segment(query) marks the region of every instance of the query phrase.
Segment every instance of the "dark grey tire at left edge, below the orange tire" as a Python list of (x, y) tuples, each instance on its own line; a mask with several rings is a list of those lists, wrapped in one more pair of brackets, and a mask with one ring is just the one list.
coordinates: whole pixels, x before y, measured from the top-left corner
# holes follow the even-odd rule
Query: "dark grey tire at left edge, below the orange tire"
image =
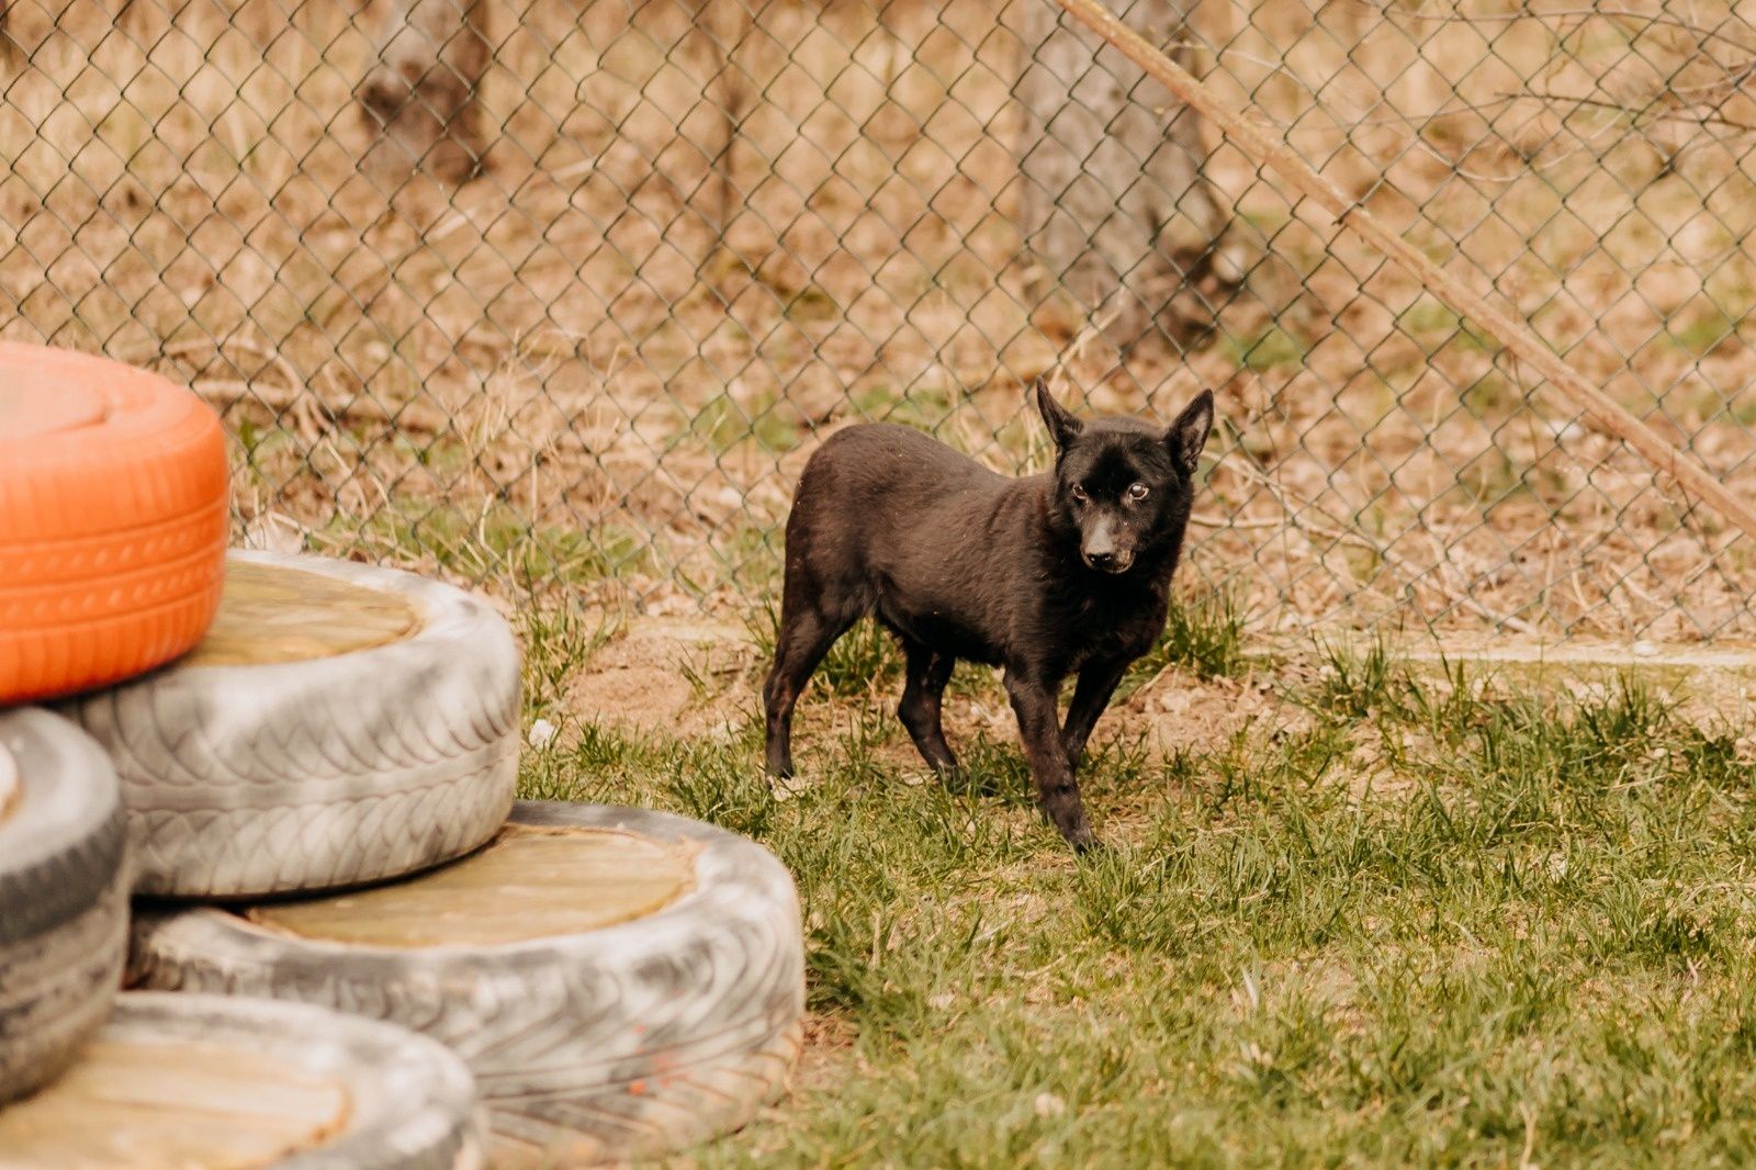
[(49, 711), (0, 711), (0, 1103), (54, 1077), (116, 998), (123, 843), (98, 745)]

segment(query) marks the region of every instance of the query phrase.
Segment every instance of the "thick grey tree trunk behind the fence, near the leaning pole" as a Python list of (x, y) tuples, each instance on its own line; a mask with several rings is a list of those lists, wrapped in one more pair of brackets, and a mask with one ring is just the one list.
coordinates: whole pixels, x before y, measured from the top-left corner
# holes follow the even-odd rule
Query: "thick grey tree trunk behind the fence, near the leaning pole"
[[(1026, 246), (1113, 343), (1180, 334), (1199, 302), (1178, 293), (1206, 276), (1227, 221), (1201, 174), (1203, 119), (1054, 0), (1022, 4)], [(1148, 40), (1184, 37), (1184, 0), (1120, 14)]]

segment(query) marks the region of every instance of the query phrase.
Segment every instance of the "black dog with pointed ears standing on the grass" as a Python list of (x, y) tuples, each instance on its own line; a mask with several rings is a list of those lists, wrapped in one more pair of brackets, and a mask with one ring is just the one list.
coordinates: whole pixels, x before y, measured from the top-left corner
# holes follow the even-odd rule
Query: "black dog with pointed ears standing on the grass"
[(792, 708), (811, 671), (876, 613), (908, 655), (897, 715), (927, 764), (957, 768), (939, 727), (957, 659), (1003, 666), (1043, 813), (1075, 849), (1092, 845), (1073, 773), (1122, 673), (1164, 629), (1213, 395), (1203, 390), (1169, 430), (1082, 425), (1041, 381), (1036, 404), (1055, 441), (1048, 474), (1008, 480), (892, 423), (848, 427), (811, 455), (787, 520), (762, 689), (773, 775), (792, 775)]

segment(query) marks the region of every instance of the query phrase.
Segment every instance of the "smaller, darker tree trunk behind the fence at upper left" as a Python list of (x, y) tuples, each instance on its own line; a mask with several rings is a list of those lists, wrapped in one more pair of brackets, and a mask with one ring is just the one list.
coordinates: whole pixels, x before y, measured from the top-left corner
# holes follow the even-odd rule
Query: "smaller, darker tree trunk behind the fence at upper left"
[(493, 60), (486, 0), (393, 0), (360, 83), (372, 162), (464, 183), (488, 153), (479, 104)]

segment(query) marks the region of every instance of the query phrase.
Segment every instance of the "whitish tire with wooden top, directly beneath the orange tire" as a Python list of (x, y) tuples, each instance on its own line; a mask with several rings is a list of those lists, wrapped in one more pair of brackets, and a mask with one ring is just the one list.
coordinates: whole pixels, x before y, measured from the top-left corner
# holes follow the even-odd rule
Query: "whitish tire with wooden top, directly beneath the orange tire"
[[(293, 601), (258, 599), (241, 617), (239, 581), (263, 580)], [(351, 597), (402, 606), (413, 629), (334, 652), (328, 634), (360, 624)], [(237, 629), (251, 620), (260, 638)], [(135, 892), (251, 898), (379, 882), (488, 840), (518, 780), (518, 685), (511, 629), (458, 589), (232, 553), (207, 641), (65, 711), (116, 762)]]

